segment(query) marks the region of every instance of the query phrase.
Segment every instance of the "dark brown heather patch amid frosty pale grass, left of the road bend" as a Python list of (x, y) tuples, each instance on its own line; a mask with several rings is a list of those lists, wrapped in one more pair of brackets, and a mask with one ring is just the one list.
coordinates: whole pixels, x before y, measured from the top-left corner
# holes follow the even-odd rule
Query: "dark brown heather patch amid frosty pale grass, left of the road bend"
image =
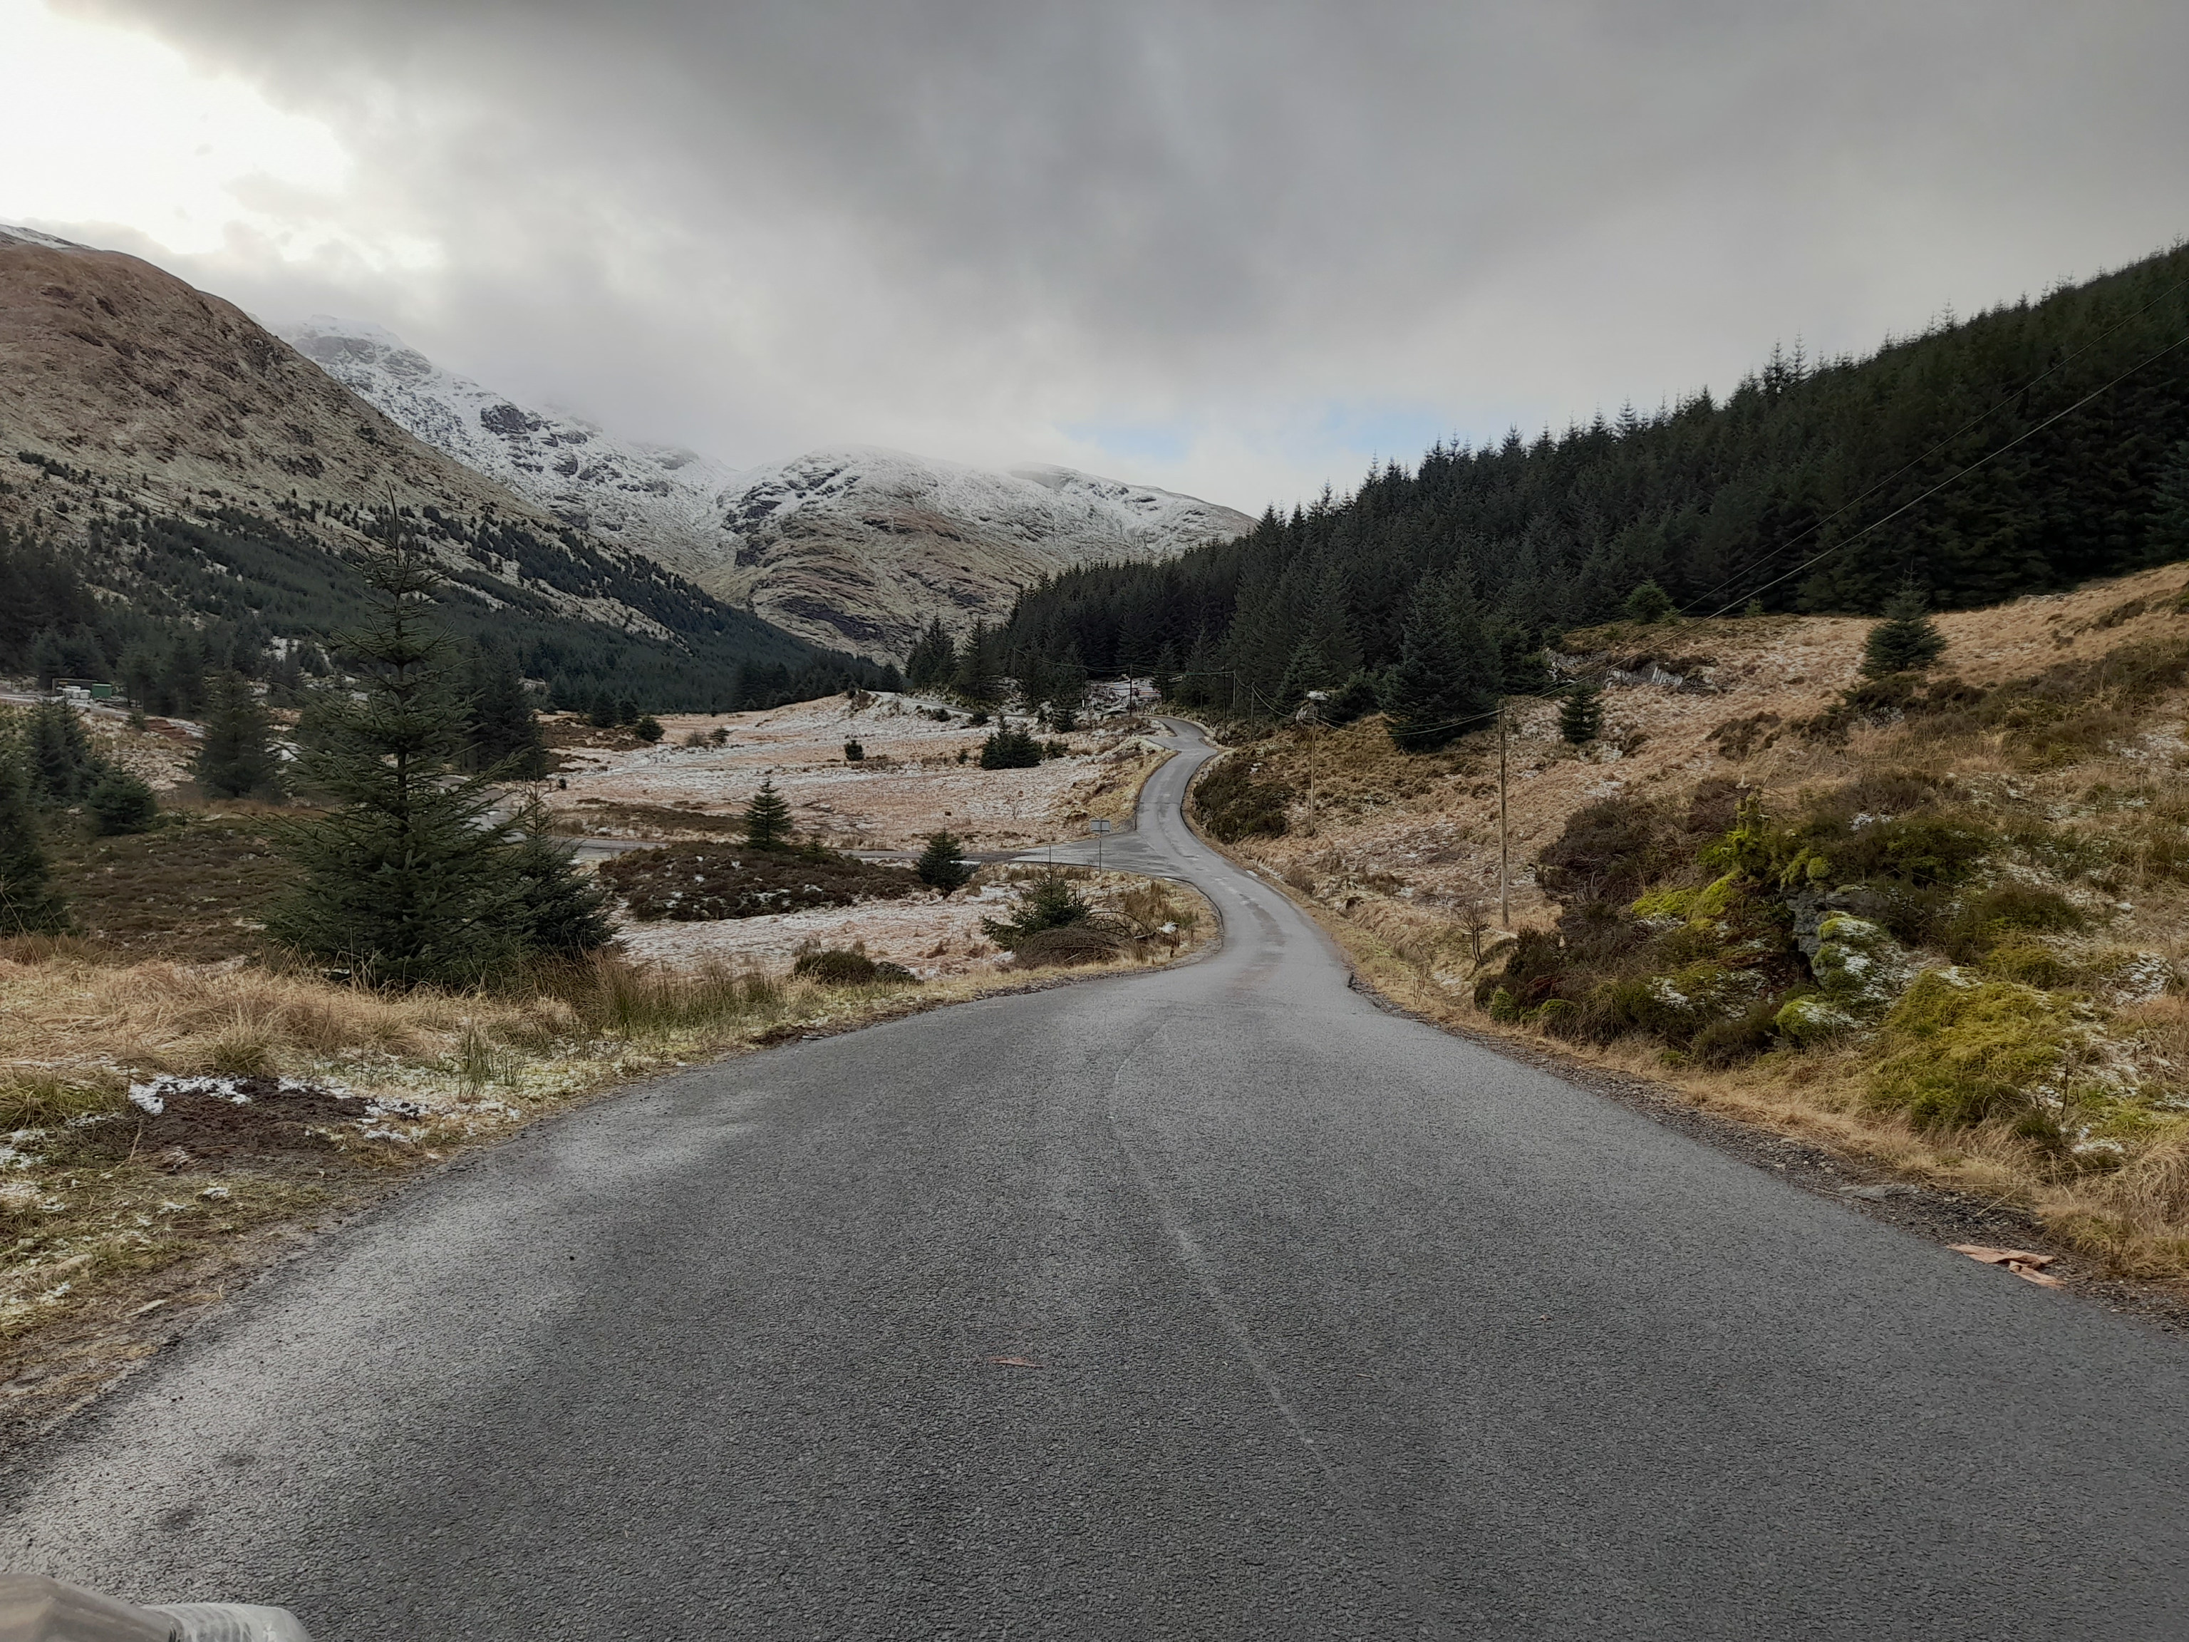
[(926, 893), (906, 867), (878, 867), (849, 856), (808, 860), (727, 843), (633, 849), (602, 863), (600, 878), (641, 924), (768, 917)]

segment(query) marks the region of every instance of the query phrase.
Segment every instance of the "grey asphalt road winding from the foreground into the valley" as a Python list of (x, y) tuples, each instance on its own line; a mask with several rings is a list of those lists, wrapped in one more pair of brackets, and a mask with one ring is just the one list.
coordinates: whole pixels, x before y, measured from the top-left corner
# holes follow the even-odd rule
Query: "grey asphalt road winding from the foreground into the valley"
[[(20, 1570), (455, 1638), (2176, 1638), (2189, 1355), (1219, 955), (422, 1182), (0, 1476)], [(1018, 1362), (998, 1362), (1018, 1360)]]

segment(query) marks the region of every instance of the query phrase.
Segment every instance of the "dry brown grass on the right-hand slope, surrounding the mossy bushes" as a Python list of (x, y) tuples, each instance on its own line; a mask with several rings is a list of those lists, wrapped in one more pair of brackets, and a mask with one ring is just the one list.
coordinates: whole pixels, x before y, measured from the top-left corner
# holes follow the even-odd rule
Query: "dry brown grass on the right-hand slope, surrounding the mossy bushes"
[[(1491, 1022), (1471, 998), (1480, 970), (1469, 935), (1484, 902), (1495, 904), (1497, 788), (1486, 742), (1408, 758), (1379, 720), (1281, 731), (1235, 755), (1302, 795), (1289, 832), (1232, 852), (1283, 878), (1366, 979), (1429, 1020), (1526, 1038), (1911, 1180), (2018, 1204), (2106, 1272), (2182, 1283), (2189, 1110), (2176, 1101), (2189, 1097), (2189, 1001), (2167, 994), (2108, 1005), (2108, 976), (2139, 955), (2189, 974), (2189, 696), (2171, 681), (2171, 657), (2189, 637), (2182, 580), (2174, 565), (1944, 615), (1950, 644), (1942, 672), (1983, 687), (2038, 683), (2001, 692), (1983, 712), (1856, 727), (1837, 744), (1797, 733), (1764, 744), (1769, 725), (1747, 738), (1716, 731), (1758, 716), (1786, 727), (1823, 712), (1854, 681), (1865, 622), (1775, 617), (1637, 631), (1620, 637), (1681, 652), (1707, 670), (1712, 690), (1609, 692), (1613, 738), (1629, 747), (1618, 760), (1559, 747), (1548, 705), (1517, 714), (1510, 744), (1515, 926), (1548, 926), (1556, 915), (1532, 884), (1534, 854), (1600, 797), (1644, 795), (1677, 808), (1701, 779), (1731, 777), (1760, 790), (1769, 810), (1791, 812), (1804, 793), (1889, 771), (1959, 782), (1968, 812), (2014, 841), (2014, 860), (2058, 874), (2088, 913), (2082, 935), (2049, 937), (2062, 974), (2047, 985), (2093, 992), (2104, 1053), (2143, 1090), (2147, 1119), (2106, 1130), (2119, 1152), (2077, 1156), (2003, 1125), (1911, 1128), (1867, 1099), (1872, 1049), (1858, 1038), (1705, 1068), (1679, 1064), (1655, 1042), (1574, 1044)], [(1729, 740), (1740, 758), (1727, 755)], [(1495, 968), (1497, 935), (1489, 939)]]

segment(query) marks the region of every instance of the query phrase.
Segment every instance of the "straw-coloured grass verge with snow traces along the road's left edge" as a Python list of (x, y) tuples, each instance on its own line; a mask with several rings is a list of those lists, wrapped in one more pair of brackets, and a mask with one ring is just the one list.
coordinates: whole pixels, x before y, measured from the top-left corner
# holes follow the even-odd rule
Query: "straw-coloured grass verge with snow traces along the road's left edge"
[(1105, 963), (849, 987), (602, 957), (506, 992), (381, 994), (241, 959), (0, 946), (0, 1443), (315, 1230), (525, 1123), (700, 1060), (1160, 968), (1215, 930), (1197, 911), (1186, 941)]

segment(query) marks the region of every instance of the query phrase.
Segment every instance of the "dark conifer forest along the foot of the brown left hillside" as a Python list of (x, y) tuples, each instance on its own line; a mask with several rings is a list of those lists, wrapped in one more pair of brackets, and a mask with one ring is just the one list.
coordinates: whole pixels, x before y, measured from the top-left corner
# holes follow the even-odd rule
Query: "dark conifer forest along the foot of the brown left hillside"
[[(74, 475), (90, 482), (90, 475)], [(120, 495), (85, 525), (83, 547), (0, 528), (0, 672), (114, 681), (138, 705), (193, 716), (208, 679), (236, 672), (276, 701), (344, 670), (333, 635), (368, 606), (366, 547), (328, 550), (326, 510), (269, 521), (239, 508), (204, 519), (153, 514)], [(370, 508), (339, 523), (381, 539), (398, 523)], [(401, 528), (442, 554), (440, 622), (547, 685), (576, 712), (736, 712), (838, 690), (893, 687), (895, 670), (819, 650), (749, 611), (700, 593), (582, 536), (405, 510)], [(517, 582), (506, 574), (514, 569)], [(549, 591), (552, 589), (552, 591)], [(554, 593), (617, 600), (668, 631), (569, 615)], [(628, 716), (628, 714), (626, 714)]]

